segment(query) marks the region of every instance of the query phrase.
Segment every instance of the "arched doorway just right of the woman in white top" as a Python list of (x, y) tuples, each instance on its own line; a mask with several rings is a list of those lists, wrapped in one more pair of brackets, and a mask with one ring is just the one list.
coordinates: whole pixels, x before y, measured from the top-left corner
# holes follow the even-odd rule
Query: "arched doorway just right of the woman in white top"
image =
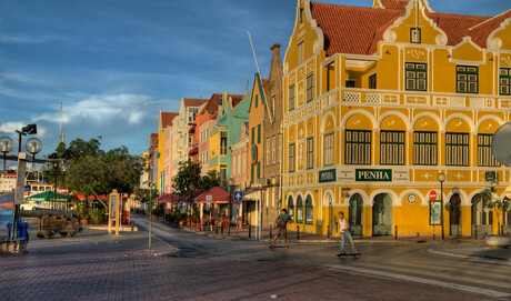
[(380, 193), (372, 205), (372, 235), (392, 235), (392, 198)]

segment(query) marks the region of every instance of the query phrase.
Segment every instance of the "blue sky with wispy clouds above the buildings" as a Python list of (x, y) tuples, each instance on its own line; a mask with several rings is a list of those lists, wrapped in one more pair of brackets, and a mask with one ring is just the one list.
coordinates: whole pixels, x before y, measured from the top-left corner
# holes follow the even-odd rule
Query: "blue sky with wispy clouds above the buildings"
[[(372, 0), (321, 0), (371, 6)], [(495, 16), (504, 0), (430, 0), (438, 12)], [(36, 122), (42, 153), (58, 142), (59, 100), (66, 142), (102, 137), (104, 149), (148, 148), (158, 112), (181, 98), (244, 93), (263, 77), (274, 42), (282, 57), (295, 0), (2, 0), (0, 136)]]

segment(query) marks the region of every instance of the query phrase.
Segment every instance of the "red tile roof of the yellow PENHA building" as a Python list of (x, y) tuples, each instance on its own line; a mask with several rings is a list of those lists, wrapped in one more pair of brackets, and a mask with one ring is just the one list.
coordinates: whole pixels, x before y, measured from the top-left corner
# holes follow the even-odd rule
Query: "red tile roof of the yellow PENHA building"
[[(312, 18), (324, 33), (327, 56), (334, 53), (372, 54), (385, 30), (404, 16), (408, 0), (380, 0), (385, 9), (349, 7), (311, 2)], [(511, 10), (494, 18), (452, 13), (425, 12), (448, 37), (448, 46), (457, 46), (464, 37), (487, 48), (488, 36), (505, 19)]]

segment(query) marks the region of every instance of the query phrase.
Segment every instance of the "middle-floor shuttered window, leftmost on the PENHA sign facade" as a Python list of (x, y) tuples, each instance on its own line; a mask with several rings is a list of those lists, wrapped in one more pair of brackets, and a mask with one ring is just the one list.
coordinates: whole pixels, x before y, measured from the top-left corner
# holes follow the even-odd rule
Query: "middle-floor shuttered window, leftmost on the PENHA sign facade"
[(344, 163), (371, 164), (371, 131), (345, 130)]

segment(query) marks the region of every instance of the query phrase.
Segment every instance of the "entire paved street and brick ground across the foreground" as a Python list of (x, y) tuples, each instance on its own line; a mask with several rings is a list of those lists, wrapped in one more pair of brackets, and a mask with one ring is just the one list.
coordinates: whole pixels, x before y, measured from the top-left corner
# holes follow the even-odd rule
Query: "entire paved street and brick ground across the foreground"
[[(144, 228), (146, 220), (137, 223)], [(31, 231), (34, 227), (31, 228)], [(3, 231), (0, 231), (3, 235)], [(338, 259), (334, 243), (214, 239), (153, 223), (147, 232), (32, 239), (29, 253), (0, 255), (2, 300), (511, 300), (509, 262), (428, 252), (432, 244), (359, 242)], [(34, 238), (34, 235), (32, 235)], [(182, 257), (156, 257), (181, 249)]]

